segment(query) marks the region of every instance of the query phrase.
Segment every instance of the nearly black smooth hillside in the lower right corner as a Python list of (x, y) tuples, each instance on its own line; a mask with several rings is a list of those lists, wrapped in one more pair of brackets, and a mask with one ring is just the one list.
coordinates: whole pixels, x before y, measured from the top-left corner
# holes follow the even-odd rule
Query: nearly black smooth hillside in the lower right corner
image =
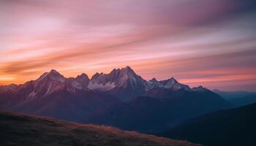
[(256, 104), (201, 115), (167, 131), (165, 137), (205, 146), (255, 146)]

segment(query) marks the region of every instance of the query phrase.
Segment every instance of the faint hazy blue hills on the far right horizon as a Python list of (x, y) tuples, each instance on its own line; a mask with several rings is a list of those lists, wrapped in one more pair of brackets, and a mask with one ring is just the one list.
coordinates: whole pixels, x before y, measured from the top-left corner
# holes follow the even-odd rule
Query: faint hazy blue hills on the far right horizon
[(256, 103), (256, 93), (247, 91), (219, 91), (214, 90), (215, 93), (222, 96), (236, 107), (244, 106), (247, 104)]

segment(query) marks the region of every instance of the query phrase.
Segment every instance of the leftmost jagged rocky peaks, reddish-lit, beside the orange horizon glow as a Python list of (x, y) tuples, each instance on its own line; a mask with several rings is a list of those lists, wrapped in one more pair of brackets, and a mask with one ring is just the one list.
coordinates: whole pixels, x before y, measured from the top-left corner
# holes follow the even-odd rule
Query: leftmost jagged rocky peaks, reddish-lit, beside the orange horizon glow
[(89, 77), (86, 74), (81, 74), (75, 78), (65, 78), (56, 70), (45, 72), (37, 80), (31, 80), (23, 85), (5, 85), (0, 88), (0, 93), (12, 93), (18, 99), (35, 99), (43, 96), (48, 96), (56, 91), (88, 91)]

